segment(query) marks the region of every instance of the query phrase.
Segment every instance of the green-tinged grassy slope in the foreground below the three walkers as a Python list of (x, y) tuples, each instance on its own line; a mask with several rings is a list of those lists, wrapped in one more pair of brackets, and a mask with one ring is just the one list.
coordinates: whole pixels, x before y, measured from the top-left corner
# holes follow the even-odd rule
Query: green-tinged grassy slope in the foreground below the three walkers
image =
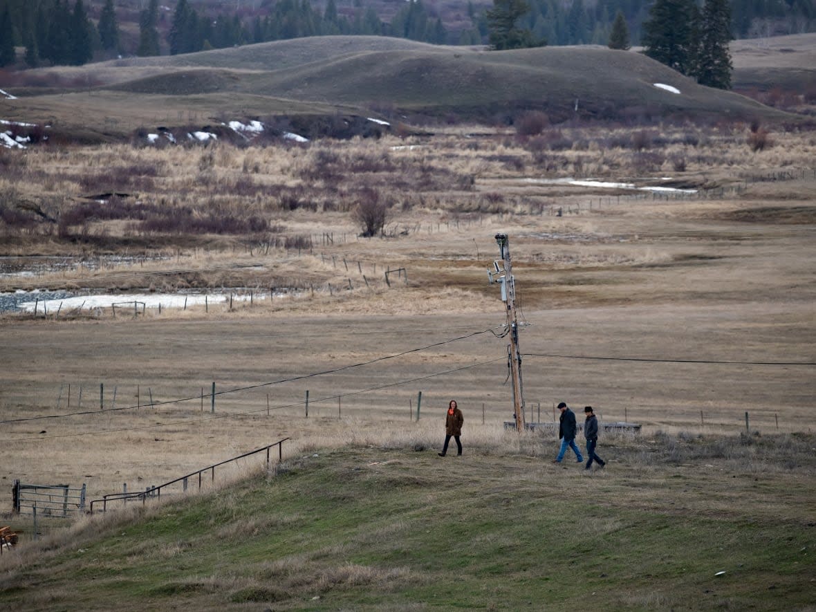
[(132, 522), (91, 522), (4, 571), (0, 604), (812, 610), (814, 442), (606, 439), (610, 465), (592, 475), (495, 448), (319, 452)]

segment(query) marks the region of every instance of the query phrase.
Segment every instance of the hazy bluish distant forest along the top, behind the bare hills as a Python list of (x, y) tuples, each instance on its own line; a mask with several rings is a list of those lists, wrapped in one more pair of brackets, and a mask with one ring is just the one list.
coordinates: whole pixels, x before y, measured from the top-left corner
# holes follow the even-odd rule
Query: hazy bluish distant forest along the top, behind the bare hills
[[(164, 0), (161, 5), (157, 0), (0, 0), (0, 65), (85, 64), (117, 55), (177, 54), (329, 34), (487, 44), (485, 11), (491, 5), (463, 2), (456, 12), (446, 0), (396, 5), (383, 0)], [(519, 26), (549, 45), (605, 45), (621, 11), (637, 45), (653, 2), (528, 0), (530, 12)], [(816, 31), (814, 0), (730, 4), (734, 38)]]

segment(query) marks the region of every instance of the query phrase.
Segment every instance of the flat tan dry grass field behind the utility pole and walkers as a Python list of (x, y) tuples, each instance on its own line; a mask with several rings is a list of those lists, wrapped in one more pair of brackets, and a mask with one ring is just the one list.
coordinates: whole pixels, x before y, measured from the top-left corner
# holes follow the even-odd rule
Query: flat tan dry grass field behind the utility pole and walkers
[[(6, 255), (141, 259), (3, 277), (3, 290), (226, 287), (254, 299), (136, 318), (4, 315), (0, 508), (11, 508), (16, 478), (85, 482), (94, 499), (284, 437), (287, 455), (379, 438), (437, 446), (450, 398), (466, 415), (468, 445), (517, 444), (503, 432), (512, 419), (507, 339), (496, 336), (504, 306), (486, 275), (498, 232), (510, 240), (524, 324), (528, 421), (552, 421), (565, 400), (595, 406), (605, 422), (641, 424), (647, 437), (735, 435), (746, 413), (751, 432), (812, 431), (816, 142), (810, 132), (770, 133), (774, 145), (753, 151), (751, 133), (542, 136), (573, 143), (561, 150), (451, 133), (6, 154), (16, 165), (0, 179), (7, 197), (78, 219), (7, 226)], [(616, 135), (650, 144), (610, 149)], [(639, 153), (654, 157), (650, 168)], [(683, 170), (672, 167), (679, 157)], [(543, 181), (570, 176), (698, 192)], [(247, 179), (255, 189), (239, 190)], [(131, 209), (119, 219), (78, 215), (86, 193), (131, 189), (141, 206), (259, 215), (272, 229), (182, 235), (140, 226)], [(366, 190), (388, 202), (389, 237), (357, 237), (352, 211)], [(388, 286), (388, 268), (404, 268), (407, 280), (392, 274)], [(270, 286), (300, 293), (269, 299)], [(554, 452), (551, 437), (523, 437), (542, 461)]]

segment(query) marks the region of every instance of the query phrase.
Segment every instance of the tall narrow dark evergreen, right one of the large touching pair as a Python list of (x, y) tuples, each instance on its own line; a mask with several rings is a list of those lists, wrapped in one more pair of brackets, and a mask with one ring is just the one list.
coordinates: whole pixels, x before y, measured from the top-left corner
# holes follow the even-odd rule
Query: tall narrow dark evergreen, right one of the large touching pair
[(695, 75), (701, 85), (731, 88), (731, 7), (728, 0), (706, 0), (700, 20), (700, 44)]

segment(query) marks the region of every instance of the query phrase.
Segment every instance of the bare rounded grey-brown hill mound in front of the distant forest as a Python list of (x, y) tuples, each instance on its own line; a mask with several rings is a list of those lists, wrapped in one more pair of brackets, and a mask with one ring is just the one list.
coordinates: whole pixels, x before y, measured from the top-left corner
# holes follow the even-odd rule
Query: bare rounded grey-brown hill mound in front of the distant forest
[[(82, 140), (215, 118), (374, 115), (389, 122), (509, 125), (632, 118), (792, 121), (729, 91), (698, 86), (635, 52), (605, 47), (483, 51), (398, 38), (320, 37), (26, 74), (3, 118), (48, 122)], [(660, 84), (663, 87), (657, 87)], [(100, 125), (100, 121), (103, 125)]]

